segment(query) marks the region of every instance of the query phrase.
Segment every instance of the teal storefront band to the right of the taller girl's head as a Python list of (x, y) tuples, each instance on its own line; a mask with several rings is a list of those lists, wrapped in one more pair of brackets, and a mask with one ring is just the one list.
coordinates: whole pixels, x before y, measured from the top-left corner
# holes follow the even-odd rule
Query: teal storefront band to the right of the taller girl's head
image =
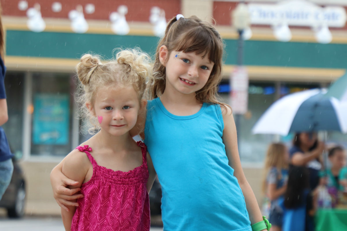
[[(226, 43), (226, 64), (236, 64), (237, 41)], [(245, 65), (347, 68), (347, 44), (255, 41), (244, 42)]]

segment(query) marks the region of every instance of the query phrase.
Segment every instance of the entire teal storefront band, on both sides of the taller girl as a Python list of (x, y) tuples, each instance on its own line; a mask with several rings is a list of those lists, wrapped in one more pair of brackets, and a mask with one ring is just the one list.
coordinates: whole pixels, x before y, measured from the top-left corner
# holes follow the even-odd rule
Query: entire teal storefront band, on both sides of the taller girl
[[(75, 34), (7, 30), (6, 54), (12, 56), (78, 59), (94, 52), (112, 57), (115, 47), (139, 46), (155, 52), (154, 36)], [(226, 39), (225, 64), (236, 64), (237, 40)], [(347, 68), (347, 44), (319, 44), (249, 40), (244, 43), (244, 64), (309, 68)]]

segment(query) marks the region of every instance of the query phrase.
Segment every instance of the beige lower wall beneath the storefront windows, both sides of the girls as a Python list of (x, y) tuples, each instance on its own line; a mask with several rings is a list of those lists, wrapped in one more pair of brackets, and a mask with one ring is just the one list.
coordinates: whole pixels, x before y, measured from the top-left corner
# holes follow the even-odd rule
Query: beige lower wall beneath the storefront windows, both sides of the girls
[[(59, 215), (60, 207), (53, 198), (49, 175), (56, 163), (21, 162), (27, 189), (25, 212), (28, 215)], [(258, 203), (262, 199), (260, 191), (261, 169), (244, 168)]]

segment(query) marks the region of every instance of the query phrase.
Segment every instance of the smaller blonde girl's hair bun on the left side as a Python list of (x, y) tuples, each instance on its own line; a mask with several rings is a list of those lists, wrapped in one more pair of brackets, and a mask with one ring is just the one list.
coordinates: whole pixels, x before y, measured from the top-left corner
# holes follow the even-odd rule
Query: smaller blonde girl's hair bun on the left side
[(98, 56), (85, 54), (81, 57), (80, 62), (77, 64), (77, 75), (83, 85), (89, 83), (92, 74), (99, 64), (101, 62)]

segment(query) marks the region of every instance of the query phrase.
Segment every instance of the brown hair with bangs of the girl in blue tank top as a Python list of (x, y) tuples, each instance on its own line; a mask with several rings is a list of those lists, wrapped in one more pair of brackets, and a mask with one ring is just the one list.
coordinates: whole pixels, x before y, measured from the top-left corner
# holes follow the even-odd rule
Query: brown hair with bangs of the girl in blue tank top
[[(211, 62), (214, 62), (209, 80), (205, 86), (196, 91), (196, 99), (201, 103), (221, 104), (217, 100), (218, 84), (222, 75), (222, 56), (223, 42), (212, 24), (200, 20), (196, 16), (189, 18), (172, 18), (165, 31), (164, 37), (160, 40), (155, 54), (153, 67), (154, 84), (151, 88), (152, 98), (157, 98), (165, 90), (166, 68), (159, 60), (159, 50), (165, 45), (169, 51), (195, 52), (203, 57), (208, 56)], [(169, 57), (169, 55), (167, 56)]]

